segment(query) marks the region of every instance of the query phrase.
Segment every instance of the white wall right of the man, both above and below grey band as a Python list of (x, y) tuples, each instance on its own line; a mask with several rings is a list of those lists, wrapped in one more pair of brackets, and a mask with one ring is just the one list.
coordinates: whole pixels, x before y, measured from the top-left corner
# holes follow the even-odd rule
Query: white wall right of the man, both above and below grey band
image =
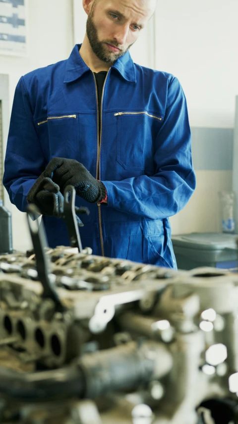
[[(179, 78), (192, 127), (234, 127), (237, 17), (237, 0), (158, 1), (156, 69)], [(221, 229), (218, 191), (232, 189), (232, 171), (199, 170), (196, 176), (191, 200), (171, 218), (175, 234)]]

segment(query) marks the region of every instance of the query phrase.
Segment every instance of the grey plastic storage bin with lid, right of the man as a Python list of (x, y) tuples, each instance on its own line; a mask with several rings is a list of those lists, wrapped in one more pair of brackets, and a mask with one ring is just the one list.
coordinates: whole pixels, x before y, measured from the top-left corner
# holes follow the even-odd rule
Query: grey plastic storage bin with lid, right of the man
[(172, 236), (178, 268), (197, 266), (235, 268), (238, 266), (238, 235), (191, 233)]

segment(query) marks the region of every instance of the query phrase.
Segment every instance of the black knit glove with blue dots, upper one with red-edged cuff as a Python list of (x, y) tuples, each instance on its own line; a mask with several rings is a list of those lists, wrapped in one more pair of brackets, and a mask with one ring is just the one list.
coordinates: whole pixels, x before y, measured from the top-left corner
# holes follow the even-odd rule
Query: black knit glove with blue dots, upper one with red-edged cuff
[(67, 185), (73, 185), (76, 194), (89, 203), (100, 203), (107, 190), (86, 168), (74, 159), (54, 158), (47, 165), (45, 176), (52, 178), (63, 193)]

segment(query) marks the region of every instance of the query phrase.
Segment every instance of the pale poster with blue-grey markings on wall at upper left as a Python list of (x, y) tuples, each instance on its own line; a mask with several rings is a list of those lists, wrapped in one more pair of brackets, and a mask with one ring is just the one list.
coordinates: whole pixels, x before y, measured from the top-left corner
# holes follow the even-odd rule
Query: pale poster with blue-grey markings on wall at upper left
[(0, 0), (0, 54), (27, 55), (26, 0)]

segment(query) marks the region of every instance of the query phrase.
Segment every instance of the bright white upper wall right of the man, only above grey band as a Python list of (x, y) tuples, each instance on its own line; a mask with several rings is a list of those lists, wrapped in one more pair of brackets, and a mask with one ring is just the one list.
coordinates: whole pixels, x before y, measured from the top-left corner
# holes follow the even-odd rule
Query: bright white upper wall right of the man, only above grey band
[(176, 75), (193, 127), (233, 128), (238, 94), (238, 1), (159, 0), (156, 67)]

